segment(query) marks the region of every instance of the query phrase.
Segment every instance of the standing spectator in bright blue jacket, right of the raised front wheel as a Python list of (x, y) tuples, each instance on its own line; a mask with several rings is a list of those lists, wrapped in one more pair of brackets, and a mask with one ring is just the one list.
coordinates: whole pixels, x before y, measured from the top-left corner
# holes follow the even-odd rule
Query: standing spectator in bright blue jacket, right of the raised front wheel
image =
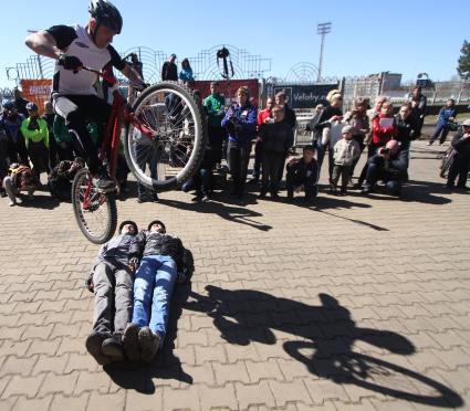
[(229, 135), (227, 159), (233, 179), (232, 194), (237, 198), (242, 198), (244, 193), (251, 140), (257, 133), (257, 116), (258, 110), (250, 103), (248, 87), (240, 87), (237, 91), (237, 104), (229, 108), (221, 122)]

